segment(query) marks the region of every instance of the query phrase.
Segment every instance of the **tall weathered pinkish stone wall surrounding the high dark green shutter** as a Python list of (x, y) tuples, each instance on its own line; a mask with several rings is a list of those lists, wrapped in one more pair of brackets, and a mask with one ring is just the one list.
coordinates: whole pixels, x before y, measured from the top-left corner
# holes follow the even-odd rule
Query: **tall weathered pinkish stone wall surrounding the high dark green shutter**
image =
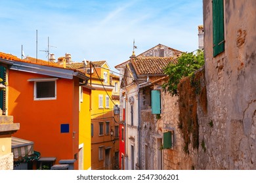
[(255, 8), (224, 1), (225, 50), (213, 58), (211, 1), (203, 1), (207, 116), (198, 108), (196, 169), (256, 169)]

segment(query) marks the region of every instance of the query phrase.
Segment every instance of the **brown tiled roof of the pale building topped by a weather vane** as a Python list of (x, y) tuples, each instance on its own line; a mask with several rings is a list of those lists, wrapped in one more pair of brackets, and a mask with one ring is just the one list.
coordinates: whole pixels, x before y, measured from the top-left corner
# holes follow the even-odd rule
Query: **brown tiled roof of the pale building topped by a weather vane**
[(177, 63), (177, 59), (173, 58), (135, 58), (131, 62), (137, 75), (163, 75), (163, 68), (168, 63)]

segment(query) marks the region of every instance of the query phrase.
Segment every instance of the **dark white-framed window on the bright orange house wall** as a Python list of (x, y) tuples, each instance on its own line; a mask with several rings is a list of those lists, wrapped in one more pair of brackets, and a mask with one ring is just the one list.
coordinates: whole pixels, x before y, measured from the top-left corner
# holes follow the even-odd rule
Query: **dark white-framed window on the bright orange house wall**
[(56, 79), (34, 81), (33, 99), (35, 101), (56, 99)]

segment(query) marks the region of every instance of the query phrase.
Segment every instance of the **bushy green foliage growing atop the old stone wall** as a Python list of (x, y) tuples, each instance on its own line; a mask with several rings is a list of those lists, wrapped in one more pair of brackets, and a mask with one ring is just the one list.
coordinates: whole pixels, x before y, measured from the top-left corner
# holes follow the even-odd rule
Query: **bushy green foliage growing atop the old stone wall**
[(203, 64), (204, 57), (202, 50), (198, 50), (196, 54), (193, 54), (193, 52), (183, 53), (178, 58), (178, 63), (169, 63), (165, 67), (164, 73), (169, 76), (169, 80), (163, 84), (163, 89), (167, 90), (171, 95), (178, 95), (177, 88), (181, 79), (186, 76), (192, 76)]

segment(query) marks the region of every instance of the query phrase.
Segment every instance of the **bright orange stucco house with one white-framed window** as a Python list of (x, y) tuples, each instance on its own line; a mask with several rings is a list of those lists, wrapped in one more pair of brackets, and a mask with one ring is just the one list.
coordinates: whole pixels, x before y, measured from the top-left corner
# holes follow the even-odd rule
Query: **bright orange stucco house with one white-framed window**
[(33, 141), (41, 158), (51, 159), (34, 163), (33, 169), (63, 159), (74, 160), (74, 169), (78, 169), (79, 86), (88, 80), (74, 69), (47, 62), (19, 60), (8, 69), (7, 112), (20, 123), (15, 137)]

